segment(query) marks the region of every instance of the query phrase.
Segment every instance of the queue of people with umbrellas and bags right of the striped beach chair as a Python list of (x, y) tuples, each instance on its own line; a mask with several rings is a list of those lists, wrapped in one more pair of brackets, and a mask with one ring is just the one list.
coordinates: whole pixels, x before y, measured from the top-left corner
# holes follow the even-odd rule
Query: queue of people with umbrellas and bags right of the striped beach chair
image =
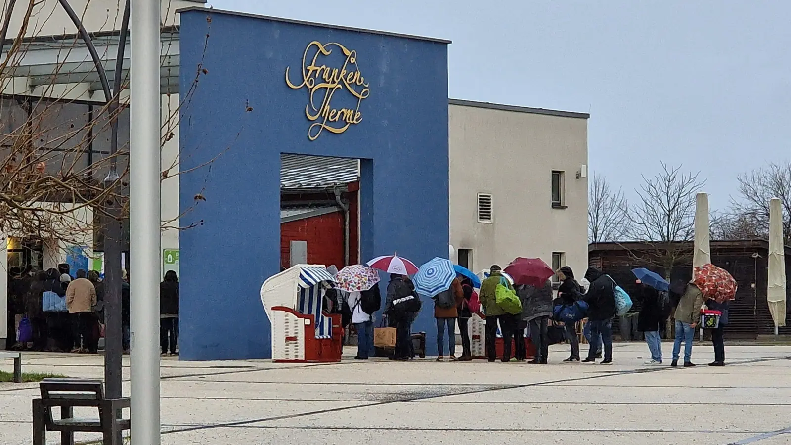
[[(536, 348), (534, 359), (528, 363), (546, 364), (548, 362), (549, 344), (556, 342), (549, 335), (549, 323), (553, 317), (553, 308), (558, 304), (571, 305), (583, 301), (587, 305), (587, 322), (585, 323), (585, 337), (589, 340), (589, 350), (585, 359), (581, 359), (579, 338), (577, 337), (576, 323), (566, 323), (565, 340), (570, 343), (570, 356), (563, 360), (564, 363), (596, 363), (611, 364), (612, 355), (612, 323), (617, 310), (615, 302), (615, 287), (617, 283), (598, 268), (589, 268), (585, 272), (587, 288), (582, 287), (574, 278), (572, 268), (564, 266), (557, 271), (560, 281), (557, 298), (553, 299), (553, 284), (551, 280), (543, 287), (530, 285), (517, 285), (509, 287), (515, 291), (520, 299), (521, 314), (508, 314), (498, 305), (496, 287), (504, 283), (501, 268), (492, 265), (490, 276), (483, 280), (480, 295), (475, 295), (471, 280), (459, 276), (448, 289), (448, 298), (455, 304), (443, 306), (440, 304), (441, 296), (433, 298), (434, 318), (437, 321), (437, 361), (445, 360), (445, 344), (447, 341), (448, 359), (451, 361), (469, 361), (471, 356), (471, 340), (467, 329), (468, 321), (472, 314), (482, 311), (486, 315), (486, 358), (490, 362), (497, 359), (496, 339), (498, 327), (503, 339), (503, 354), (501, 361), (524, 361), (526, 351), (524, 348), (524, 332), (529, 329), (532, 344)], [(637, 280), (638, 295), (642, 302), (638, 315), (638, 330), (645, 334), (651, 358), (645, 361), (648, 365), (663, 363), (661, 350), (660, 326), (668, 316), (673, 313), (676, 321), (676, 340), (673, 347), (672, 367), (678, 366), (680, 346), (686, 342), (683, 356), (684, 367), (694, 367), (691, 362), (692, 338), (697, 327), (699, 313), (702, 309), (721, 311), (722, 315), (717, 329), (712, 329), (715, 360), (710, 366), (725, 366), (725, 347), (723, 339), (723, 326), (728, 323), (729, 303), (717, 303), (713, 300), (704, 301), (701, 291), (688, 283), (675, 305), (671, 306), (668, 295), (660, 295), (653, 287), (644, 285)], [(414, 291), (414, 285), (408, 276), (391, 275), (388, 283), (384, 315), (388, 318), (388, 327), (396, 329), (395, 353), (391, 359), (414, 359), (414, 348), (411, 341), (411, 325), (422, 308), (422, 302)], [(477, 298), (476, 298), (477, 297)], [(365, 301), (378, 302), (379, 287), (374, 286), (370, 291), (352, 292), (348, 295), (348, 305), (352, 311), (351, 322), (358, 332), (358, 355), (356, 359), (368, 359), (373, 351), (373, 314), (380, 306), (369, 305)], [(478, 308), (480, 305), (480, 309)], [(456, 323), (461, 334), (462, 353), (456, 357)], [(447, 333), (447, 335), (445, 335)], [(447, 339), (447, 340), (446, 340)], [(514, 357), (511, 355), (511, 343), (514, 342)]]

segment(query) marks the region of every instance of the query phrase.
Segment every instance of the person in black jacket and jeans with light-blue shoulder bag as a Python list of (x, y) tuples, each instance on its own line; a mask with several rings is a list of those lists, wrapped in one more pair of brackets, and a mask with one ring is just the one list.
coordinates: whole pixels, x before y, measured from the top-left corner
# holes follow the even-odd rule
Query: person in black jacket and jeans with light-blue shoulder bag
[(612, 319), (615, 318), (615, 282), (598, 268), (588, 268), (585, 280), (591, 285), (583, 299), (588, 303), (588, 322), (591, 326), (591, 341), (588, 358), (582, 363), (596, 363), (599, 334), (604, 343), (604, 360), (600, 364), (612, 363)]

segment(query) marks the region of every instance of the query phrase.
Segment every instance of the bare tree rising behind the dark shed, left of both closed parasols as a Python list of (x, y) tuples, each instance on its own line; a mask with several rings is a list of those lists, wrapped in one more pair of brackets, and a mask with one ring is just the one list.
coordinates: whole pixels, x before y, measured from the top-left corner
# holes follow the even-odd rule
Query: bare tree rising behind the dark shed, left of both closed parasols
[(640, 258), (664, 268), (672, 268), (691, 255), (689, 241), (694, 234), (695, 195), (706, 184), (698, 173), (682, 171), (682, 166), (662, 163), (655, 177), (643, 176), (636, 189), (638, 203), (628, 212), (631, 237), (649, 246), (649, 255)]

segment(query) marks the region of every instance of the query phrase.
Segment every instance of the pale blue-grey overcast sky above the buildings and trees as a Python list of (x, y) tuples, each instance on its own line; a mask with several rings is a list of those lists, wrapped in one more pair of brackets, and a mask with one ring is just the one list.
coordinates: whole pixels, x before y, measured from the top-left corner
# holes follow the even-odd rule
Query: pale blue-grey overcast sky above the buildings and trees
[(452, 40), (450, 97), (590, 112), (590, 170), (630, 194), (683, 163), (723, 208), (738, 173), (791, 159), (788, 0), (210, 4)]

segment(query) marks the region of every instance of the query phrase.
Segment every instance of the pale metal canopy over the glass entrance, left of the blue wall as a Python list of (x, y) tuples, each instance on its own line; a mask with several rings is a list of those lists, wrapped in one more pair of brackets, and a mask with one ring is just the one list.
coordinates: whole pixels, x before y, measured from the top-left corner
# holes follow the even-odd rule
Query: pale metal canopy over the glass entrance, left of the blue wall
[[(96, 32), (91, 36), (107, 77), (112, 79), (118, 66), (115, 56), (118, 52), (119, 32)], [(131, 36), (127, 36), (127, 51), (121, 63), (127, 85), (130, 41)], [(13, 40), (6, 40), (0, 61), (5, 61), (9, 56), (11, 44)], [(161, 33), (160, 86), (163, 94), (179, 93), (179, 50), (178, 27), (166, 27)], [(8, 65), (4, 77), (10, 81), (0, 86), (3, 94), (54, 98), (69, 96), (71, 99), (104, 101), (96, 66), (87, 45), (76, 33), (27, 39), (21, 44), (21, 48), (13, 52)], [(57, 86), (59, 88), (55, 88)], [(75, 97), (75, 93), (79, 97)]]

